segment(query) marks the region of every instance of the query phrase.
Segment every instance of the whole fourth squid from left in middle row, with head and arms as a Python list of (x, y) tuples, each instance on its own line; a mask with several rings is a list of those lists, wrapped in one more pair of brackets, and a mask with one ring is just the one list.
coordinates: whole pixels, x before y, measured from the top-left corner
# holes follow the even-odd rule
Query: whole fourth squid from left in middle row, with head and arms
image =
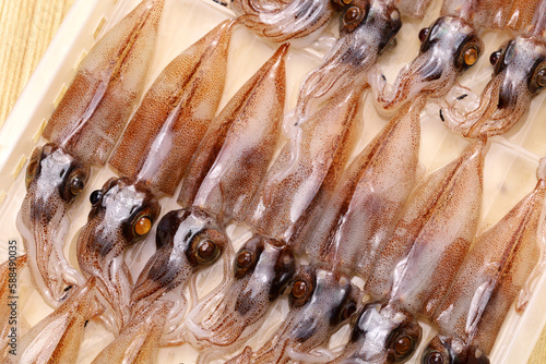
[[(306, 211), (325, 201), (359, 135), (363, 93), (348, 85), (301, 125), (273, 161), (246, 214), (236, 217), (256, 233), (234, 259), (222, 296), (203, 300), (187, 327), (205, 348), (201, 363), (237, 350), (263, 323), (295, 271), (290, 234), (312, 223)], [(237, 294), (234, 295), (233, 292)]]

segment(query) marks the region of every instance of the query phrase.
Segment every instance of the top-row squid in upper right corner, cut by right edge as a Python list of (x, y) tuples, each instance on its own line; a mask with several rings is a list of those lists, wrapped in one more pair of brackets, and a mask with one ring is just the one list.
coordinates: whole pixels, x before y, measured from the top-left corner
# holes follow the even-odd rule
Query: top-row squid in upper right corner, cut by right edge
[(515, 2), (508, 26), (524, 31), (491, 53), (492, 77), (477, 106), (464, 99), (441, 102), (442, 119), (453, 132), (467, 137), (508, 132), (546, 86), (546, 11), (544, 1)]

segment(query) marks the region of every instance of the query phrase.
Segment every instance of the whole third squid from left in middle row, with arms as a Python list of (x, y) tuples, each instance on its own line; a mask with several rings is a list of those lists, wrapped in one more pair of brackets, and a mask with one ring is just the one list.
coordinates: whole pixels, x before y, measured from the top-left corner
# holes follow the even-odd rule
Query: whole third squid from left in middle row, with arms
[[(204, 38), (202, 44), (207, 45), (209, 40)], [(246, 209), (276, 148), (285, 100), (287, 49), (288, 45), (281, 46), (211, 121), (193, 158), (188, 160), (188, 170), (194, 173), (187, 174), (179, 196), (188, 205), (166, 214), (159, 221), (157, 251), (131, 291), (132, 316), (129, 331), (121, 332), (126, 337), (123, 345), (112, 342), (100, 354), (102, 361), (111, 355), (135, 357), (136, 354), (122, 353), (141, 350), (139, 338), (147, 335), (147, 323), (155, 321), (159, 314), (163, 324), (161, 335), (154, 337), (156, 349), (187, 340), (181, 323), (186, 308), (182, 290), (191, 277), (222, 255), (224, 266), (229, 266), (233, 254), (225, 228)], [(155, 305), (159, 306), (147, 308)], [(142, 350), (153, 355), (146, 348)]]

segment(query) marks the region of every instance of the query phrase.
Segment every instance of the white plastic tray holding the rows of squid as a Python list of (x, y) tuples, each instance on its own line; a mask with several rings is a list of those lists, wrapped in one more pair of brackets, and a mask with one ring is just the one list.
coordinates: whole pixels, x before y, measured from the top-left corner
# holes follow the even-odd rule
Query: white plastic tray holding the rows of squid
[[(20, 253), (23, 253), (21, 235), (15, 228), (15, 216), (25, 194), (24, 169), (26, 161), (36, 144), (45, 142), (39, 137), (45, 122), (55, 108), (55, 102), (62, 89), (71, 82), (75, 65), (82, 54), (94, 44), (96, 36), (100, 36), (133, 9), (138, 0), (79, 0), (72, 7), (63, 24), (51, 43), (44, 59), (23, 92), (4, 126), (0, 130), (0, 260), (7, 260), (7, 245), (9, 240), (16, 240)], [(438, 1), (437, 1), (438, 2)], [(436, 7), (438, 9), (438, 3)], [(402, 66), (412, 60), (418, 51), (418, 31), (429, 25), (438, 15), (438, 10), (429, 11), (423, 22), (404, 19), (404, 25), (399, 35), (399, 46), (389, 50), (381, 59), (387, 77), (392, 82)], [(180, 51), (198, 40), (224, 19), (233, 14), (211, 0), (166, 0), (164, 16), (159, 28), (159, 41), (156, 58), (153, 62), (152, 74), (147, 85), (161, 70)], [(491, 66), (488, 54), (498, 49), (499, 45), (510, 38), (509, 33), (487, 32), (483, 35), (486, 51), (478, 63), (471, 69), (461, 83), (480, 92), (490, 78)], [(319, 45), (316, 48), (319, 49)], [(403, 46), (403, 47), (402, 47)], [(274, 45), (263, 43), (247, 29), (236, 29), (230, 47), (226, 90), (222, 105), (273, 54)], [(292, 49), (287, 61), (287, 105), (286, 111), (295, 105), (296, 93), (301, 78), (307, 72), (320, 63), (320, 57), (314, 50)], [(505, 137), (492, 141), (485, 165), (485, 185), (483, 204), (483, 223), (480, 230), (498, 221), (515, 203), (530, 192), (535, 184), (535, 169), (541, 156), (546, 155), (546, 122), (538, 116), (545, 109), (543, 96), (536, 97), (526, 120), (520, 123), (514, 131)], [(222, 107), (221, 105), (221, 107)], [(360, 147), (366, 145), (385, 124), (371, 102), (366, 102), (365, 129)], [(466, 142), (450, 132), (442, 125), (438, 110), (427, 107), (423, 114), (423, 137), (420, 161), (428, 170), (436, 169), (458, 156)], [(95, 169), (92, 181), (76, 202), (72, 218), (72, 228), (67, 241), (66, 253), (72, 264), (75, 259), (75, 236), (79, 229), (85, 223), (90, 210), (87, 196), (91, 191), (102, 186), (104, 181), (114, 175), (109, 168)], [(163, 213), (179, 208), (173, 199), (162, 202)], [(240, 244), (246, 231), (234, 229), (229, 231), (234, 244)], [(126, 254), (126, 260), (138, 275), (147, 257), (153, 253), (154, 231), (149, 239), (139, 246), (132, 247)], [(212, 270), (201, 274), (198, 282), (204, 290), (214, 286), (212, 277), (218, 277), (221, 264)], [(494, 351), (490, 355), (492, 363), (526, 363), (534, 343), (536, 342), (544, 324), (546, 313), (546, 276), (543, 275), (534, 290), (531, 302), (523, 313), (510, 313), (501, 330)], [(28, 283), (27, 277), (21, 277), (20, 310), (22, 317), (34, 325), (51, 312)], [(270, 323), (278, 321), (278, 316), (287, 310), (286, 301), (281, 300), (270, 314)], [(273, 325), (273, 324), (272, 324)], [(427, 330), (428, 331), (428, 330)], [(271, 332), (271, 331), (270, 331)], [(347, 329), (336, 335), (343, 338)], [(430, 335), (430, 333), (429, 333)], [(91, 324), (85, 332), (81, 348), (79, 363), (88, 363), (93, 357), (114, 339), (99, 325)], [(262, 332), (257, 341), (266, 339)], [(426, 343), (429, 337), (425, 337)], [(418, 351), (417, 351), (418, 352)], [(188, 344), (179, 348), (162, 349), (159, 363), (194, 362), (197, 352)]]

